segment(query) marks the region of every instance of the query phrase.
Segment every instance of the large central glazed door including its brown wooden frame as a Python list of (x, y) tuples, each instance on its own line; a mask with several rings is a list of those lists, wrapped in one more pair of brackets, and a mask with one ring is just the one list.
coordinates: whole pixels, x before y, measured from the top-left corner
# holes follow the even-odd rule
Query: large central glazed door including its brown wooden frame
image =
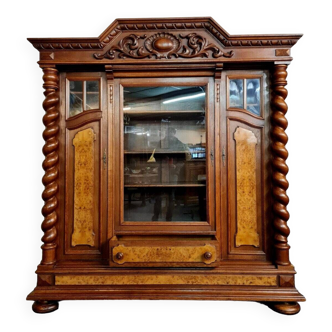
[(115, 235), (214, 234), (213, 80), (117, 83)]

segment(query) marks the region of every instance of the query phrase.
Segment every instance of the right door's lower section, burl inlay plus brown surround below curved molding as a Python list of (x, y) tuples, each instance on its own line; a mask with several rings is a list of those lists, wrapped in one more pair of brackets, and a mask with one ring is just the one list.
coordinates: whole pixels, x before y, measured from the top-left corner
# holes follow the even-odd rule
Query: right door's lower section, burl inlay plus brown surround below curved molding
[(264, 128), (228, 118), (227, 129), (228, 251), (235, 259), (265, 259)]

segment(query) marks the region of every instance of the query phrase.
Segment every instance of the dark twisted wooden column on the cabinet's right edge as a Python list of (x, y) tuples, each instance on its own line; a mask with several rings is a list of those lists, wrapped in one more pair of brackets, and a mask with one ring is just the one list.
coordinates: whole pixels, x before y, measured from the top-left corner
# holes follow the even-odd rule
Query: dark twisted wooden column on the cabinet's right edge
[(287, 160), (289, 151), (287, 145), (289, 136), (287, 129), (289, 122), (286, 117), (289, 106), (288, 98), (288, 65), (275, 65), (273, 72), (272, 94), (272, 181), (273, 181), (273, 212), (274, 212), (274, 240), (275, 240), (275, 263), (277, 265), (290, 265), (289, 237), (291, 229), (288, 225), (290, 212), (288, 205), (289, 181), (287, 175), (289, 166)]

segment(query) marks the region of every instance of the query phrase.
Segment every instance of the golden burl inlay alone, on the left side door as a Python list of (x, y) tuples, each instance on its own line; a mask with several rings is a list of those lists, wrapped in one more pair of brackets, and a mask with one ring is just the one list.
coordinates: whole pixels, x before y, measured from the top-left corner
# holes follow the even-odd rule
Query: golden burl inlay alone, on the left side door
[(82, 130), (73, 139), (75, 147), (74, 232), (72, 246), (94, 246), (94, 142), (92, 128)]

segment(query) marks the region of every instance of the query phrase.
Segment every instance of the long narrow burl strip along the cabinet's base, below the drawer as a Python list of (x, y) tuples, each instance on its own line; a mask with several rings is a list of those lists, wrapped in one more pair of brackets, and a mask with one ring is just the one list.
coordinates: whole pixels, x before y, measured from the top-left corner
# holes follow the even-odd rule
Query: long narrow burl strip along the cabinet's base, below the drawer
[(276, 276), (208, 274), (63, 275), (55, 277), (62, 285), (218, 285), (277, 286)]

